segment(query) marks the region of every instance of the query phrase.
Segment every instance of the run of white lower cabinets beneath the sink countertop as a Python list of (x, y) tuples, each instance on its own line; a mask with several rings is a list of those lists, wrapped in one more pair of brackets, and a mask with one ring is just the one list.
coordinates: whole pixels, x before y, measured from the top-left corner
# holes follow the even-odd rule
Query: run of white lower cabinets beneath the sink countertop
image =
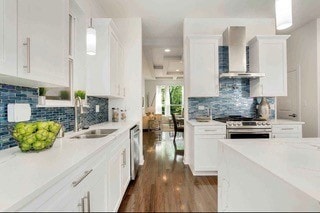
[(130, 182), (129, 131), (17, 211), (117, 211)]

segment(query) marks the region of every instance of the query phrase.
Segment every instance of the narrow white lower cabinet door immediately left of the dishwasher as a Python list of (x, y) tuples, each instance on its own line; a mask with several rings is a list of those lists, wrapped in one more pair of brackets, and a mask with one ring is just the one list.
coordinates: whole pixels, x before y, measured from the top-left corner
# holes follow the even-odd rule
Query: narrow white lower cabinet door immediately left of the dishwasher
[(126, 139), (122, 146), (121, 192), (125, 193), (130, 182), (130, 140)]

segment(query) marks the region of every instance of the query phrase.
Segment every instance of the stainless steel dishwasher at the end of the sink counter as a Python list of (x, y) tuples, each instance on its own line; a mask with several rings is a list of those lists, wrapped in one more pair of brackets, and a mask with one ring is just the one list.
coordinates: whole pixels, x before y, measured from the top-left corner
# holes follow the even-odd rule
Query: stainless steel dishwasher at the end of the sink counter
[(135, 125), (130, 129), (130, 149), (131, 149), (131, 180), (135, 180), (140, 161), (140, 129)]

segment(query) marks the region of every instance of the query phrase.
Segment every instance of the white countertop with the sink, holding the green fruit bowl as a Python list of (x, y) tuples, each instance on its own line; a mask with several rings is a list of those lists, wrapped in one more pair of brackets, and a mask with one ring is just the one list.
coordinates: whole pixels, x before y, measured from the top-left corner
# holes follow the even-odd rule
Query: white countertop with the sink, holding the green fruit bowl
[(18, 147), (0, 151), (0, 211), (22, 207), (137, 123), (108, 122), (90, 127), (118, 129), (104, 138), (69, 139), (88, 130), (70, 132), (39, 153), (23, 153)]

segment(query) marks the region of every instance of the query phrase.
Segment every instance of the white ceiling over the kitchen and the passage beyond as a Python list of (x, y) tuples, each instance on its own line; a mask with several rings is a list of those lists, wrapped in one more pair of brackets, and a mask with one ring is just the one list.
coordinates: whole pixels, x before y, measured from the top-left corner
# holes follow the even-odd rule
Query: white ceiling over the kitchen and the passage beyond
[[(96, 0), (108, 17), (141, 17), (143, 51), (151, 68), (182, 56), (184, 18), (274, 18), (274, 0)], [(293, 0), (289, 33), (320, 16), (320, 0)], [(164, 53), (170, 48), (170, 53)], [(171, 68), (172, 69), (172, 68)], [(174, 68), (173, 68), (174, 69)], [(178, 69), (178, 68), (177, 68)], [(168, 70), (163, 70), (166, 73)], [(156, 72), (155, 74), (157, 75)], [(163, 75), (163, 73), (161, 73)]]

